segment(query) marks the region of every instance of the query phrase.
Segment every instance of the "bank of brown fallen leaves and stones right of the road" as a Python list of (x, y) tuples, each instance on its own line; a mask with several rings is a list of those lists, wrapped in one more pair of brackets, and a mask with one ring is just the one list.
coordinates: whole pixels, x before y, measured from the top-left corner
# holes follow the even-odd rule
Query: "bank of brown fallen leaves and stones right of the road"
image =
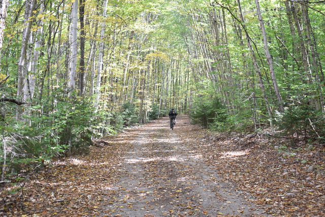
[[(196, 143), (208, 165), (225, 181), (235, 182), (267, 213), (284, 216), (325, 215), (325, 147), (265, 137), (216, 134), (195, 126), (182, 139)], [(186, 132), (186, 133), (185, 133)]]

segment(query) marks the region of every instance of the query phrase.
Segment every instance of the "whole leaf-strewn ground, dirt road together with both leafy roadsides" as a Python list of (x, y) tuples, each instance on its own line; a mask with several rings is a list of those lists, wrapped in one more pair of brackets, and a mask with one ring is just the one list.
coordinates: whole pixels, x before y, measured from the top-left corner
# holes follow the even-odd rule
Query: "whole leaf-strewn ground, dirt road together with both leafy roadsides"
[(325, 215), (323, 146), (280, 151), (283, 140), (217, 134), (188, 123), (181, 116), (170, 131), (168, 118), (160, 118), (98, 140), (89, 154), (34, 174), (22, 192), (8, 194), (8, 185), (0, 214)]

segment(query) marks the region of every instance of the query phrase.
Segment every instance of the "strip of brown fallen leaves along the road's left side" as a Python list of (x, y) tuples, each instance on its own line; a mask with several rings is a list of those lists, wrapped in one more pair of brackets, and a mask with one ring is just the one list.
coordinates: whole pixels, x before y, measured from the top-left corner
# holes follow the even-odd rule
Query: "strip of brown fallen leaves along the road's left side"
[(97, 144), (89, 154), (46, 166), (26, 181), (22, 191), (18, 186), (23, 182), (7, 184), (0, 193), (0, 215), (98, 214), (99, 205), (107, 198), (107, 189), (118, 177), (114, 166), (121, 162), (128, 145), (123, 134), (110, 138), (105, 145), (100, 141)]

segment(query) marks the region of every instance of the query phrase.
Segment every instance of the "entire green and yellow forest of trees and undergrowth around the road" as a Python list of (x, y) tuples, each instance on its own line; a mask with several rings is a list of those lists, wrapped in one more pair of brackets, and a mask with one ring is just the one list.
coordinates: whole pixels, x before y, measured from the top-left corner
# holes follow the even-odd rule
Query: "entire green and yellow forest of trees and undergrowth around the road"
[(325, 141), (319, 0), (1, 0), (1, 183), (168, 115)]

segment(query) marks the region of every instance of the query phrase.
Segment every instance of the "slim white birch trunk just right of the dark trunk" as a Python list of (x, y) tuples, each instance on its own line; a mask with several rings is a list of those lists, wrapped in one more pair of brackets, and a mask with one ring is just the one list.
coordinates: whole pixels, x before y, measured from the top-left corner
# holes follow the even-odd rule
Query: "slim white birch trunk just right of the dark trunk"
[[(104, 1), (104, 11), (103, 11), (103, 17), (106, 18), (106, 11), (107, 11), (107, 2), (108, 0)], [(98, 103), (100, 101), (101, 96), (101, 73), (103, 69), (103, 52), (104, 52), (104, 36), (105, 36), (105, 21), (101, 24), (102, 30), (101, 30), (101, 41), (99, 45), (99, 55), (98, 55), (98, 73), (97, 73), (97, 81), (96, 81), (96, 88), (95, 88), (95, 108), (98, 107)]]

